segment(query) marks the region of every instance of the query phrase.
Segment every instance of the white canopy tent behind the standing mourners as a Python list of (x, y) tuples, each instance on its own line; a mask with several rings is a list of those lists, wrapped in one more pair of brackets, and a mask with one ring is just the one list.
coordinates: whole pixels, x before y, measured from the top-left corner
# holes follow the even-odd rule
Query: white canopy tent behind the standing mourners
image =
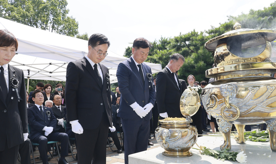
[[(66, 80), (66, 67), (87, 54), (88, 41), (36, 29), (0, 17), (0, 29), (7, 29), (18, 40), (17, 55), (10, 64), (24, 71), (25, 78), (40, 80)], [(110, 82), (117, 82), (118, 64), (126, 57), (108, 49), (108, 55), (101, 62), (108, 67)], [(152, 73), (160, 71), (161, 64), (146, 63)]]

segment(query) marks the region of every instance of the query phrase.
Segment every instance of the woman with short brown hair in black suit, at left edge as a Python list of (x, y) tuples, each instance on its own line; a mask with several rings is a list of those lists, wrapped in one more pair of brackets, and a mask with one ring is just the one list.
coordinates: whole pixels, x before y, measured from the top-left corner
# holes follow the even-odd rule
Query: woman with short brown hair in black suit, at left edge
[(8, 64), (17, 48), (15, 36), (0, 30), (0, 164), (15, 164), (19, 145), (28, 137), (24, 74)]

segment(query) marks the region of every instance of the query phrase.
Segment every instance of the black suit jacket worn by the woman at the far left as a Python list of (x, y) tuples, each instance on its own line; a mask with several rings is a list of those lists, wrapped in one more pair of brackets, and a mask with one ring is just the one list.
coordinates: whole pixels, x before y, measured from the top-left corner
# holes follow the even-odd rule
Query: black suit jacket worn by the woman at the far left
[[(4, 151), (6, 140), (8, 141), (8, 148), (23, 143), (23, 133), (28, 132), (24, 74), (21, 69), (15, 68), (10, 64), (8, 64), (8, 71), (9, 90), (6, 102), (0, 87), (0, 151)], [(11, 86), (11, 77), (18, 79), (19, 85), (16, 89)]]

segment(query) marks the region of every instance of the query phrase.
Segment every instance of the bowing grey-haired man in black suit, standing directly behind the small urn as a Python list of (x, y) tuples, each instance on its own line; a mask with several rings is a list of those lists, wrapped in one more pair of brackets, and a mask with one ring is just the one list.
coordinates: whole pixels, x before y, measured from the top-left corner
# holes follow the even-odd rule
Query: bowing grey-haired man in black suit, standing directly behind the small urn
[(181, 84), (175, 72), (184, 62), (184, 57), (175, 53), (170, 57), (168, 65), (157, 73), (156, 101), (159, 115), (163, 118), (183, 117), (180, 111)]

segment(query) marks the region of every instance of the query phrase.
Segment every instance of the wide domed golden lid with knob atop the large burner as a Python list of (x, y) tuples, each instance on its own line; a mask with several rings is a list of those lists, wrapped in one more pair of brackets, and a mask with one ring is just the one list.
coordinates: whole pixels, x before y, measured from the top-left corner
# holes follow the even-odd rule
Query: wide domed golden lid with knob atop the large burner
[[(240, 37), (240, 40), (244, 40), (241, 47), (242, 49), (265, 44), (265, 42), (263, 42), (263, 38), (269, 42), (276, 39), (275, 30), (241, 29), (241, 25), (239, 23), (236, 23), (233, 28), (235, 30), (226, 32), (221, 36), (217, 36), (213, 39), (208, 40), (205, 43), (205, 48), (210, 51), (215, 51), (219, 41), (221, 39), (228, 38), (228, 37)], [(250, 39), (250, 38), (254, 38), (254, 39)]]

